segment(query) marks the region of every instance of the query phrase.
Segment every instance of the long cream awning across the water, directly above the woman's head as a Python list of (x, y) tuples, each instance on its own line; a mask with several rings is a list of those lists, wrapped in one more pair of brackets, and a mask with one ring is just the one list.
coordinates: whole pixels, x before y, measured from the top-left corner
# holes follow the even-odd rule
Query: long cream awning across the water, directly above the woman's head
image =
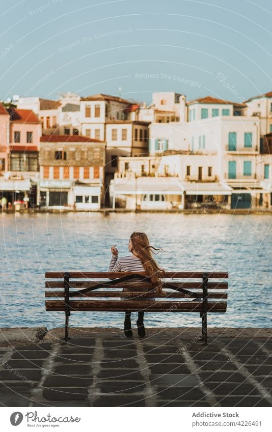
[(173, 177), (139, 177), (129, 181), (126, 178), (115, 179), (111, 181), (110, 189), (115, 195), (183, 194), (182, 183)]

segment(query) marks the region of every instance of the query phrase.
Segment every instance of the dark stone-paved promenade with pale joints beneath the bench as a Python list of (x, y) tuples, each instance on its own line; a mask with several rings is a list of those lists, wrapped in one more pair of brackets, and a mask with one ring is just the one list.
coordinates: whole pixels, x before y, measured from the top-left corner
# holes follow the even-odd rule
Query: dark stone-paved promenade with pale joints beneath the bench
[[(0, 404), (7, 407), (271, 407), (272, 330), (244, 335), (199, 329), (63, 329), (0, 348)], [(232, 331), (231, 331), (232, 330)], [(137, 333), (134, 330), (134, 333)], [(239, 336), (241, 334), (241, 336)], [(259, 335), (259, 336), (258, 336)]]

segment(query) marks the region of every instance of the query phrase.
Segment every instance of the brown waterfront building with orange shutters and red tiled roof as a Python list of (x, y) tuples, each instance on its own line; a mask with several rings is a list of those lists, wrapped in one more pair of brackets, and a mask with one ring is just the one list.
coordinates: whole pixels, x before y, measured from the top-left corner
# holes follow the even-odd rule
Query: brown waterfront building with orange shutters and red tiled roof
[(38, 201), (46, 209), (100, 209), (105, 142), (81, 135), (40, 138)]

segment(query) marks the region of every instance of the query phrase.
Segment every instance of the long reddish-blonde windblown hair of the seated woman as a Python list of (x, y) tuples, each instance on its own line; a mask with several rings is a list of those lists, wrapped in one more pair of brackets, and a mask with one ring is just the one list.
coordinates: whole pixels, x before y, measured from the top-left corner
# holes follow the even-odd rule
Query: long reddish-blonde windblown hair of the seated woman
[[(149, 244), (148, 237), (145, 233), (135, 233), (133, 232), (130, 236), (130, 241), (132, 243), (132, 253), (136, 253), (145, 269), (146, 274), (151, 280), (152, 285), (155, 287), (158, 294), (164, 294), (161, 287), (161, 278), (165, 277), (166, 271), (160, 269), (152, 257), (153, 250), (164, 250), (161, 248), (156, 249)], [(153, 249), (153, 250), (151, 250)], [(152, 252), (152, 253), (151, 253)]]

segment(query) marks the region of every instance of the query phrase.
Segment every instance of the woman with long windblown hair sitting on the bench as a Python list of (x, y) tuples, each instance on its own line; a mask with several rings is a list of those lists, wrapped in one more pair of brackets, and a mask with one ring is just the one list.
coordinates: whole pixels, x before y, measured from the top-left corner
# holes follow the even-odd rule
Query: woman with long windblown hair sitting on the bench
[[(150, 246), (147, 235), (145, 233), (132, 233), (130, 239), (128, 241), (128, 250), (131, 252), (131, 255), (124, 256), (118, 258), (118, 250), (116, 245), (111, 247), (112, 251), (112, 260), (110, 263), (110, 267), (108, 268), (109, 272), (135, 272), (142, 273), (145, 272), (147, 276), (150, 278), (156, 293), (162, 294), (161, 289), (161, 277), (164, 277), (165, 270), (160, 269), (152, 257), (153, 250), (163, 250), (161, 248), (156, 249), (153, 246)], [(155, 252), (153, 252), (155, 253)], [(126, 282), (135, 282), (137, 279), (130, 279)], [(133, 288), (124, 287), (123, 291), (135, 291)], [(147, 291), (146, 289), (138, 290), (138, 291)], [(137, 300), (145, 300), (144, 297), (140, 297)], [(152, 301), (155, 298), (151, 299)], [(133, 336), (131, 330), (131, 321), (130, 321), (130, 311), (125, 312), (125, 335), (126, 337)], [(144, 327), (144, 311), (140, 310), (138, 312), (138, 320), (137, 320), (138, 334), (141, 337), (145, 336), (145, 327)]]

